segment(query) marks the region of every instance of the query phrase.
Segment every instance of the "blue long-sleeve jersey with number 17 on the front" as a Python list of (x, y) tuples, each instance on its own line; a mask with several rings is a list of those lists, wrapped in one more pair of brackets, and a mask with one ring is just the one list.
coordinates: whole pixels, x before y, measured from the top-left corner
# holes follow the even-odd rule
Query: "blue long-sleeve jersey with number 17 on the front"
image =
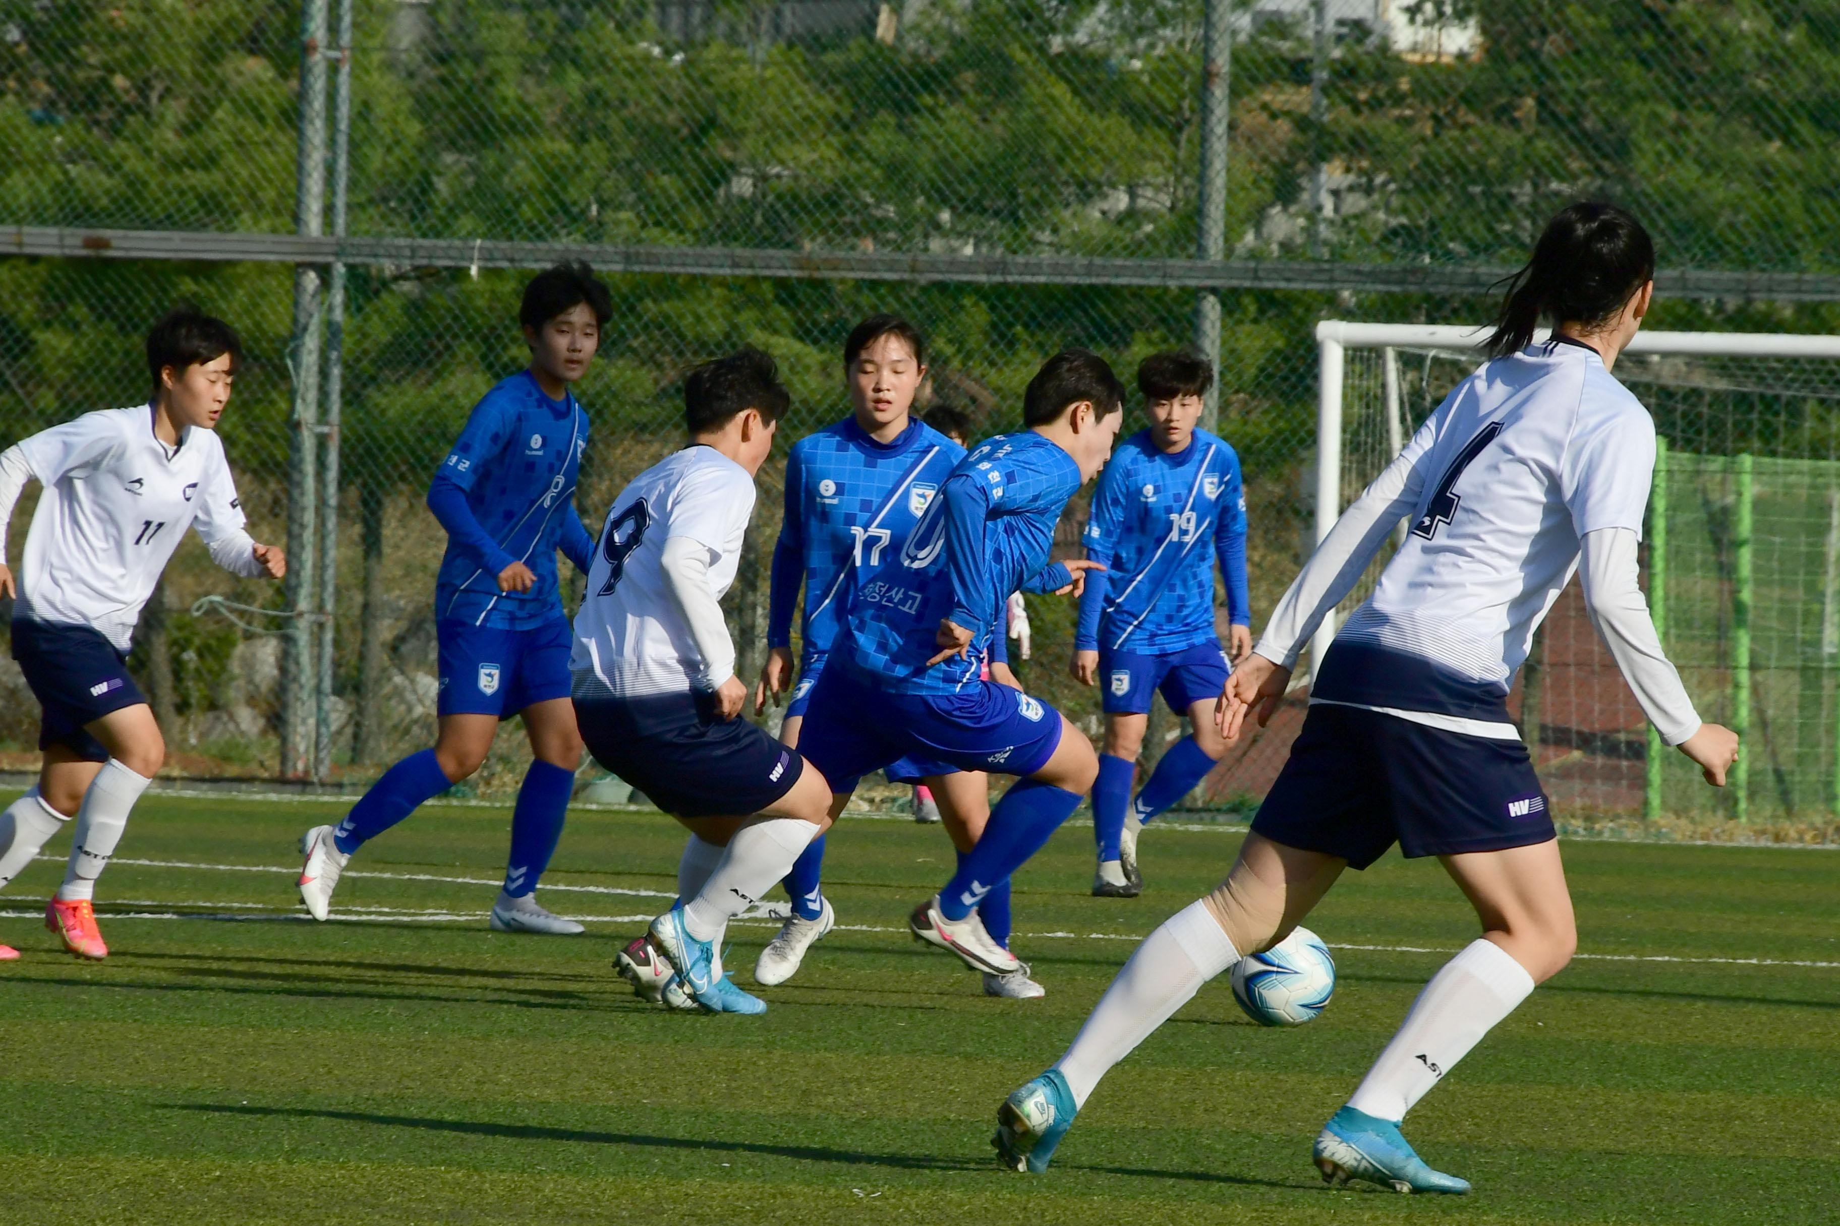
[(900, 553), (964, 448), (922, 421), (878, 443), (845, 417), (793, 443), (786, 518), (773, 546), (767, 645), (791, 647), (793, 608), (806, 667), (822, 658), (861, 577)]

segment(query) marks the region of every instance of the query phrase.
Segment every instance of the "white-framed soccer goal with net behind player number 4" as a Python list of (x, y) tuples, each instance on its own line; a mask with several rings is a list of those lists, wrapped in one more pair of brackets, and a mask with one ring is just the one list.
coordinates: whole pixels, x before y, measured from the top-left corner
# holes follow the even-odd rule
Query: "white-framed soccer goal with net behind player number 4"
[[(1317, 325), (1317, 539), (1476, 369), (1485, 336)], [(1616, 377), (1660, 436), (1643, 585), (1662, 643), (1700, 717), (1735, 728), (1744, 754), (1724, 792), (1704, 787), (1647, 726), (1573, 583), (1509, 700), (1555, 809), (1840, 816), (1840, 336), (1645, 331)], [(1332, 636), (1334, 625), (1317, 634), (1312, 669)]]

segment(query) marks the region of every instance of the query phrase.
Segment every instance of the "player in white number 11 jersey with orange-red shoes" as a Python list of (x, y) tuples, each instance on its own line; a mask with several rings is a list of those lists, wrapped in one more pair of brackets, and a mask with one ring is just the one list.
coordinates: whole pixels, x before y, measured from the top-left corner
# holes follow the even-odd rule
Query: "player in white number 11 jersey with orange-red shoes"
[[(44, 923), (64, 948), (107, 958), (90, 901), (127, 814), (166, 757), (153, 709), (127, 675), (140, 610), (188, 528), (237, 575), (282, 577), (287, 559), (243, 531), (213, 430), (241, 344), (223, 320), (178, 309), (147, 335), (153, 399), (85, 414), (0, 454), (0, 594), (15, 596), (6, 533), (26, 483), (44, 493), (26, 535), (13, 658), (44, 709), (39, 783), (0, 812), (0, 886), (72, 816), (64, 884)], [(0, 945), (0, 959), (18, 954)]]

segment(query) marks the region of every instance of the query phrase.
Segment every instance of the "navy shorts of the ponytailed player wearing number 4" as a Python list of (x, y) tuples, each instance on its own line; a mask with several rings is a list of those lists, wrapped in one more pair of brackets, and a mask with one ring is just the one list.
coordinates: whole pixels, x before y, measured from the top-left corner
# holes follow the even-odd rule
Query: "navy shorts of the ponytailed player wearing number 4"
[(1555, 836), (1520, 741), (1470, 737), (1397, 715), (1317, 702), (1253, 831), (1367, 868), (1406, 857), (1527, 847)]

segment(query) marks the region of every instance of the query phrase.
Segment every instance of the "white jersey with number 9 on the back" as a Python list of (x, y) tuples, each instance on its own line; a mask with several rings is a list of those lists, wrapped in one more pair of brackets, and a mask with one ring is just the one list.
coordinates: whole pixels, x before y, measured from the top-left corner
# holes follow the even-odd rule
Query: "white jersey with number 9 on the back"
[(664, 542), (688, 539), (705, 550), (710, 596), (721, 599), (742, 564), (753, 513), (754, 478), (712, 447), (668, 456), (620, 491), (576, 612), (569, 656), (576, 697), (638, 698), (708, 687), (719, 662), (705, 658), (672, 592)]

